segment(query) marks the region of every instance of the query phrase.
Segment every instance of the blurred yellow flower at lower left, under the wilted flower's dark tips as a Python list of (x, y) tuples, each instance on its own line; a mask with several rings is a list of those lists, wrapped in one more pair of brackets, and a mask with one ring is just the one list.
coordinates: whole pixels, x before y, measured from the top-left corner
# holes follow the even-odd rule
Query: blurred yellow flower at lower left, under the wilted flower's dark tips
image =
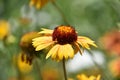
[[(29, 73), (29, 72), (32, 70), (33, 66), (32, 66), (32, 65), (29, 65), (29, 64), (27, 64), (27, 63), (25, 63), (25, 62), (22, 61), (22, 59), (21, 59), (22, 54), (23, 54), (23, 53), (20, 53), (20, 54), (18, 55), (18, 58), (17, 58), (17, 66), (18, 66), (18, 69), (19, 69), (20, 72), (22, 72), (22, 73)], [(24, 56), (24, 58), (26, 58), (26, 56)]]

